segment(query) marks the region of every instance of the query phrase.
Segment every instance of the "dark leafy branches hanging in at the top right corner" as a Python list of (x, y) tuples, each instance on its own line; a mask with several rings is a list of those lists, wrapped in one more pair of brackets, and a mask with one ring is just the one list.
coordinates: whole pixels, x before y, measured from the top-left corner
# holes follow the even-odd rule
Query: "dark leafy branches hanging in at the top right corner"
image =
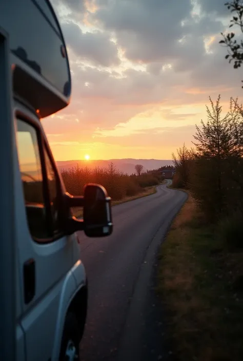
[[(241, 33), (243, 33), (243, 0), (232, 0), (226, 3), (225, 6), (227, 6), (232, 13), (229, 27), (238, 26)], [(223, 44), (228, 50), (225, 58), (229, 59), (229, 63), (231, 63), (232, 60), (234, 61), (235, 69), (239, 68), (243, 62), (243, 40), (236, 40), (235, 33), (233, 32), (227, 34), (221, 33), (221, 35), (224, 37), (224, 40), (220, 40), (219, 44)]]

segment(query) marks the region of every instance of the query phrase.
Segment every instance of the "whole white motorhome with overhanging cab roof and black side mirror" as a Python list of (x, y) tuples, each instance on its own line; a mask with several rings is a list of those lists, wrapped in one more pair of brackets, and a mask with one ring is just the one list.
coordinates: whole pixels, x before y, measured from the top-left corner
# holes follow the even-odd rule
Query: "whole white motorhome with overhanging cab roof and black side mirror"
[[(68, 194), (42, 128), (41, 119), (65, 108), (70, 96), (65, 41), (50, 3), (0, 1), (5, 361), (78, 360), (87, 281), (75, 232), (112, 232), (106, 190), (89, 184), (82, 197)], [(76, 206), (84, 207), (82, 220), (72, 216)]]

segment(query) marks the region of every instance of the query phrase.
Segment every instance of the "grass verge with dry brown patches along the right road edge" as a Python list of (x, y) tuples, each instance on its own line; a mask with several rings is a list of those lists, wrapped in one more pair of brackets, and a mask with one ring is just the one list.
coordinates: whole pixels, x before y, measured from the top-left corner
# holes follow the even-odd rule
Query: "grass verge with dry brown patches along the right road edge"
[(159, 252), (157, 291), (172, 359), (243, 359), (242, 261), (243, 252), (224, 248), (189, 195)]

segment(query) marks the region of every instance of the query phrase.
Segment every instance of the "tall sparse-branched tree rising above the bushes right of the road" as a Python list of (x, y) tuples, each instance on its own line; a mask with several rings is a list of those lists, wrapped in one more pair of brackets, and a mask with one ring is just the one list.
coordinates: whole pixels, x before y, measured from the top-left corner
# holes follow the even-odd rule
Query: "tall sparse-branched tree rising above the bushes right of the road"
[(191, 173), (194, 199), (211, 218), (218, 217), (227, 208), (226, 195), (230, 174), (234, 173), (236, 159), (243, 155), (240, 128), (242, 117), (237, 100), (230, 99), (230, 109), (222, 116), (220, 95), (211, 109), (206, 106), (208, 121), (196, 126), (195, 161)]

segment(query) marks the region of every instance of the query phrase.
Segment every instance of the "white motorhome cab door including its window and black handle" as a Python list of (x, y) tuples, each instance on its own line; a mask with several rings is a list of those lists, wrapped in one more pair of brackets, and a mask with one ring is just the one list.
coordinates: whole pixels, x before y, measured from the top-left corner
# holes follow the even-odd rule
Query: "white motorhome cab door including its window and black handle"
[(17, 107), (15, 122), (21, 325), (27, 361), (43, 361), (52, 353), (60, 292), (73, 263), (72, 242), (60, 230), (60, 182), (39, 119)]

